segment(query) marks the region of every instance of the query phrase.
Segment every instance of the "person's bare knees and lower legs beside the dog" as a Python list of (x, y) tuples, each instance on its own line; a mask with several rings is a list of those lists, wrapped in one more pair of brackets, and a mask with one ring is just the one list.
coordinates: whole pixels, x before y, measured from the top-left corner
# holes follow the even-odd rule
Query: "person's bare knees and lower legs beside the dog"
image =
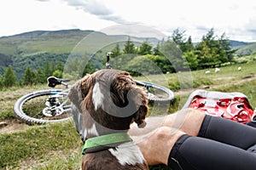
[(185, 109), (167, 116), (150, 116), (147, 126), (131, 125), (129, 134), (138, 144), (148, 165), (167, 164), (172, 146), (183, 134), (196, 136), (205, 114)]

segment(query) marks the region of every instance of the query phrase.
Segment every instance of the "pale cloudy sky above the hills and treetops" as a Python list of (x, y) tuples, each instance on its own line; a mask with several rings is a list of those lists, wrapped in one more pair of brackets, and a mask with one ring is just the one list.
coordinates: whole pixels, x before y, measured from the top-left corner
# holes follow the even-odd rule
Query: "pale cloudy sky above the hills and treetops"
[(0, 37), (28, 31), (94, 30), (143, 25), (193, 42), (213, 28), (231, 40), (256, 42), (255, 0), (2, 0)]

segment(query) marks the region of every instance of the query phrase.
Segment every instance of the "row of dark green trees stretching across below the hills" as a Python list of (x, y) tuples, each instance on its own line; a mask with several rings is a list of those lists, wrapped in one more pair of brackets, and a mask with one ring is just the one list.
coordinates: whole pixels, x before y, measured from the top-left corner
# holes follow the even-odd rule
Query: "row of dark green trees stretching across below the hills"
[[(131, 41), (130, 37), (128, 37), (128, 40), (123, 45), (123, 47), (120, 47), (119, 43), (116, 43), (112, 50), (112, 59), (118, 60), (116, 58), (119, 58), (119, 60), (122, 61), (122, 63), (118, 63), (113, 66), (113, 68), (130, 71), (133, 75), (137, 75), (138, 71), (157, 74), (158, 70), (155, 69), (154, 66), (150, 67), (148, 62), (153, 62), (160, 68), (160, 71), (164, 73), (175, 72), (177, 68), (186, 69), (186, 65), (189, 65), (189, 69), (191, 70), (214, 67), (224, 62), (231, 61), (233, 54), (236, 52), (230, 48), (230, 40), (225, 34), (217, 37), (213, 29), (208, 31), (207, 34), (201, 38), (201, 42), (197, 44), (192, 42), (191, 37), (185, 37), (185, 31), (177, 29), (173, 31), (172, 37), (158, 42), (155, 47), (148, 41), (141, 43), (137, 47), (136, 44)], [(101, 53), (103, 51), (104, 50), (101, 50)], [(133, 55), (130, 55), (128, 58), (127, 54)], [(105, 62), (102, 60), (102, 55), (103, 54), (98, 54), (97, 56), (97, 54), (95, 54), (94, 59), (90, 59), (85, 68), (84, 65), (81, 64), (81, 60), (84, 60), (83, 56), (69, 62), (69, 67), (78, 68), (79, 71), (83, 68), (83, 74), (91, 73), (97, 69), (102, 69), (101, 65)], [(87, 59), (90, 58), (88, 56), (84, 57)], [(44, 65), (37, 70), (32, 70), (29, 66), (26, 66), (26, 71), (24, 71), (23, 77), (19, 80), (15, 77), (15, 71), (9, 66), (3, 76), (0, 76), (0, 88), (8, 88), (15, 84), (33, 85), (45, 83), (49, 76), (62, 77), (64, 63), (60, 61), (62, 58), (59, 58), (56, 58), (58, 61), (52, 61), (52, 63), (49, 63), (49, 60), (45, 59)]]

